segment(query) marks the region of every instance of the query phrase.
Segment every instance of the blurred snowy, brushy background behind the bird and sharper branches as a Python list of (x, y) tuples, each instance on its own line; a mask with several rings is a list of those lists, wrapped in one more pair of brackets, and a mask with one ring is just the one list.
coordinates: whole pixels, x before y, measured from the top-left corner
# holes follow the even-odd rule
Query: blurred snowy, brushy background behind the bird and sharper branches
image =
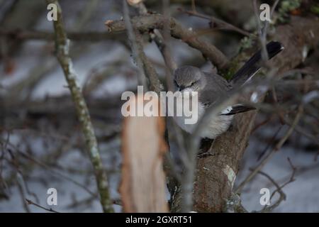
[[(283, 9), (283, 1), (279, 1), (280, 9)], [(256, 31), (252, 1), (195, 2), (199, 13), (216, 16), (249, 33)], [(314, 1), (306, 2), (315, 4)], [(121, 94), (135, 91), (138, 83), (125, 33), (107, 33), (104, 25), (106, 20), (121, 19), (121, 1), (61, 0), (60, 5), (71, 39), (74, 70), (78, 73), (89, 106), (103, 165), (108, 173), (114, 208), (120, 212)], [(145, 5), (149, 11), (162, 12), (162, 1), (147, 0)], [(315, 6), (313, 15), (318, 16), (315, 13), (318, 13), (319, 6)], [(179, 10), (191, 10), (191, 7), (190, 0), (172, 0), (169, 11), (177, 21), (197, 31), (229, 58), (237, 55), (245, 41), (244, 35), (213, 29), (207, 20)], [(297, 5), (294, 13), (303, 13), (298, 11), (300, 7)], [(131, 13), (134, 15), (137, 11), (131, 9)], [(147, 37), (144, 41), (147, 57), (156, 66), (160, 79), (164, 80), (161, 53)], [(194, 65), (213, 71), (213, 65), (206, 62), (201, 52), (181, 40), (171, 38), (169, 41), (177, 65)], [(30, 199), (50, 207), (46, 204), (49, 188), (57, 189), (57, 206), (51, 206), (56, 211), (101, 212), (74, 104), (55, 57), (52, 22), (47, 21), (45, 1), (0, 0), (0, 49), (0, 212), (43, 212), (43, 209), (30, 206), (25, 201)], [(307, 59), (300, 66), (311, 68), (315, 73), (305, 75), (296, 72), (291, 78), (310, 77), (317, 84), (318, 92), (318, 62), (316, 48), (308, 52)], [(278, 93), (280, 104), (289, 109), (296, 106), (296, 99), (300, 99), (304, 91), (287, 86), (278, 89)], [(267, 95), (265, 102), (274, 104), (272, 94)], [(296, 167), (295, 180), (283, 188), (286, 200), (274, 211), (319, 212), (318, 107), (318, 99), (307, 104), (298, 123), (300, 130), (293, 132), (263, 168), (263, 172), (283, 184), (289, 181), (293, 167)], [(287, 128), (278, 113), (259, 112), (236, 184), (245, 179), (250, 167), (254, 167), (264, 153), (280, 140)], [(249, 211), (262, 208), (259, 191), (264, 187), (275, 189), (262, 175), (257, 175), (245, 185), (241, 194), (242, 204)]]

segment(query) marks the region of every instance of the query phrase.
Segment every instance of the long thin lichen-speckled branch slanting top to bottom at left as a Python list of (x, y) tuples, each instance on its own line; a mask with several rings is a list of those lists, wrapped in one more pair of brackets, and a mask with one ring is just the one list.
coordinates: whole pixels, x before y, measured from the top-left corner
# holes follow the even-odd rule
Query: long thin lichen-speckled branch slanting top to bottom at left
[(57, 6), (57, 21), (54, 21), (55, 29), (55, 45), (57, 51), (57, 59), (60, 62), (62, 70), (65, 74), (65, 79), (69, 86), (72, 99), (77, 110), (77, 117), (82, 126), (86, 146), (89, 150), (89, 157), (94, 167), (94, 175), (96, 177), (97, 187), (99, 189), (100, 201), (104, 212), (113, 212), (113, 204), (108, 192), (108, 180), (106, 172), (103, 169), (99, 148), (94, 134), (94, 128), (89, 116), (89, 110), (82, 95), (81, 88), (77, 83), (77, 74), (72, 67), (72, 59), (69, 57), (69, 40), (65, 33), (65, 28), (62, 21), (62, 10), (57, 0), (47, 0), (47, 3), (52, 3)]

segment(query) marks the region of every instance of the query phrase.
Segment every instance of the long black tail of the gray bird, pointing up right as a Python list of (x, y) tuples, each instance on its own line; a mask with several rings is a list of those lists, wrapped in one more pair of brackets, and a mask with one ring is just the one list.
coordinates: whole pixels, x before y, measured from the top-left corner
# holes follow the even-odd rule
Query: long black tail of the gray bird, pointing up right
[[(268, 57), (272, 59), (272, 57), (276, 56), (281, 50), (284, 50), (284, 46), (279, 42), (269, 42), (266, 45)], [(260, 69), (262, 66), (262, 50), (258, 50), (250, 60), (248, 60), (245, 65), (243, 65), (240, 70), (238, 70), (233, 78), (230, 80), (231, 83), (242, 85), (248, 79), (250, 79), (254, 74)]]

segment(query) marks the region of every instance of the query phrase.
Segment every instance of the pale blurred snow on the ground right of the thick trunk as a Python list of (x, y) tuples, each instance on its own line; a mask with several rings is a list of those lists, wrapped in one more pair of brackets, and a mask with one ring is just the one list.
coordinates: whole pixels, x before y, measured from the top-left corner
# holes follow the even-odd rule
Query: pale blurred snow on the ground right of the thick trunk
[[(250, 146), (245, 153), (243, 162), (244, 168), (240, 170), (236, 184), (242, 182), (250, 172), (250, 167), (257, 165), (256, 150), (260, 147), (264, 148), (265, 144), (251, 138)], [(286, 194), (286, 200), (274, 209), (274, 212), (319, 212), (319, 164), (314, 160), (315, 153), (307, 153), (304, 150), (292, 148), (289, 145), (284, 146), (276, 153), (272, 160), (267, 162), (262, 168), (262, 172), (267, 173), (270, 177), (276, 180), (277, 183), (284, 184), (289, 181), (292, 170), (287, 157), (290, 158), (293, 165), (297, 168), (295, 181), (287, 184), (282, 190)], [(259, 199), (262, 194), (259, 194), (260, 189), (268, 188), (270, 194), (276, 189), (269, 182), (269, 179), (262, 175), (257, 175), (250, 184), (247, 184), (242, 192), (242, 205), (249, 211), (259, 211), (262, 206)], [(278, 197), (274, 197), (276, 201)], [(272, 203), (271, 203), (272, 204)]]

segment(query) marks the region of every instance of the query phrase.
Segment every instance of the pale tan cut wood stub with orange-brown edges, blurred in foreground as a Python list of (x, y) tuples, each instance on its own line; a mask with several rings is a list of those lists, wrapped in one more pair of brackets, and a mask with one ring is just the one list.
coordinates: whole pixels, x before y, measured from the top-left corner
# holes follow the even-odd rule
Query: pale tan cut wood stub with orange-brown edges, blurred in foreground
[[(159, 106), (158, 99), (152, 99)], [(135, 105), (136, 104), (136, 105)], [(143, 96), (130, 99), (130, 108), (143, 108)], [(168, 212), (163, 157), (164, 118), (157, 116), (128, 116), (123, 125), (123, 166), (120, 187), (123, 211)]]

